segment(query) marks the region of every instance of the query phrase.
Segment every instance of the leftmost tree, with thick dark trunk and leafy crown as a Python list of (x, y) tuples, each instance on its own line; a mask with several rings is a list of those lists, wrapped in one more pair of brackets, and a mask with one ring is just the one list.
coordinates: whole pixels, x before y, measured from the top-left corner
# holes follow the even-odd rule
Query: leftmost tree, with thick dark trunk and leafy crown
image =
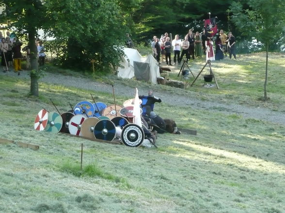
[(38, 79), (40, 77), (37, 62), (35, 38), (37, 30), (47, 25), (46, 8), (42, 0), (0, 0), (6, 5), (4, 15), (11, 20), (18, 34), (28, 33), (31, 49), (31, 95), (39, 96)]

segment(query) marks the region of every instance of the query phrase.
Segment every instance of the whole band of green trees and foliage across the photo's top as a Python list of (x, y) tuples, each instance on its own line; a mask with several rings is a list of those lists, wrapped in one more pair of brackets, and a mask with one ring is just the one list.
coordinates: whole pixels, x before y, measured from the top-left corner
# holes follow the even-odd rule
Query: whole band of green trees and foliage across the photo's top
[[(37, 29), (44, 29), (48, 36), (56, 38), (45, 43), (47, 50), (54, 52), (55, 63), (79, 69), (90, 68), (91, 59), (100, 69), (118, 65), (126, 33), (136, 46), (145, 46), (150, 45), (154, 35), (160, 37), (165, 32), (182, 38), (190, 28), (201, 32), (209, 12), (211, 17), (217, 17), (219, 29), (232, 31), (236, 36), (238, 53), (264, 51), (264, 43), (248, 33), (253, 30), (239, 28), (234, 10), (239, 6), (243, 11), (255, 13), (254, 5), (263, 10), (268, 3), (274, 5), (268, 14), (278, 13), (279, 8), (281, 14), (277, 15), (282, 17), (282, 0), (0, 0), (6, 6), (1, 22), (7, 22), (7, 28), (16, 28), (17, 35), (26, 40), (30, 34), (37, 36)], [(254, 23), (253, 18), (247, 21), (256, 25), (256, 29), (263, 26)], [(281, 31), (283, 35), (272, 36), (269, 51), (284, 49), (284, 25)]]

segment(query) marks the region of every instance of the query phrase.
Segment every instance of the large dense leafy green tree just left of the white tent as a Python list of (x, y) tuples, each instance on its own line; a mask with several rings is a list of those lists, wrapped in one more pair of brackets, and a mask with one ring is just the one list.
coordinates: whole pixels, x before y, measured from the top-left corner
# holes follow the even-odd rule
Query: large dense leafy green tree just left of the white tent
[(116, 0), (49, 0), (45, 6), (64, 67), (90, 68), (92, 59), (97, 69), (119, 65), (128, 28)]

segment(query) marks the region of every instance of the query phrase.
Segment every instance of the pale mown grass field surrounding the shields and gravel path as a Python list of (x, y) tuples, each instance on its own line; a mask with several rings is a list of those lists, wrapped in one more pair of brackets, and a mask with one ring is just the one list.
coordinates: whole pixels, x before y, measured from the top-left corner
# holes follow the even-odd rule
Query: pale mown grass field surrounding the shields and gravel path
[[(203, 88), (201, 79), (187, 90), (155, 89), (284, 113), (284, 56), (269, 57), (268, 102), (258, 100), (264, 53), (214, 62), (220, 90)], [(284, 125), (225, 115), (222, 109), (174, 108), (164, 101), (156, 105), (158, 114), (173, 115), (197, 136), (161, 134), (158, 149), (130, 148), (35, 131), (36, 114), (42, 108), (55, 111), (50, 98), (64, 112), (68, 102), (94, 92), (47, 83), (39, 88), (40, 97), (30, 97), (29, 81), (0, 76), (0, 138), (15, 141), (0, 144), (0, 213), (285, 213)], [(110, 94), (95, 93), (112, 103)], [(116, 98), (118, 104), (127, 99)], [(17, 142), (40, 148), (21, 148)]]

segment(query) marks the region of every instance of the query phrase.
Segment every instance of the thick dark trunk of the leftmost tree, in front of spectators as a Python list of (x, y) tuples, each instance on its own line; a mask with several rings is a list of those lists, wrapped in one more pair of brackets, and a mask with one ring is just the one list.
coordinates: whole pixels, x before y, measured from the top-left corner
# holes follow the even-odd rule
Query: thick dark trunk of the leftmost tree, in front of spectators
[(35, 43), (35, 34), (36, 34), (36, 29), (35, 28), (30, 28), (29, 29), (29, 45), (31, 49), (31, 95), (33, 96), (39, 96), (39, 85), (38, 85), (38, 79), (39, 79), (39, 74), (38, 74), (38, 50), (36, 47)]

